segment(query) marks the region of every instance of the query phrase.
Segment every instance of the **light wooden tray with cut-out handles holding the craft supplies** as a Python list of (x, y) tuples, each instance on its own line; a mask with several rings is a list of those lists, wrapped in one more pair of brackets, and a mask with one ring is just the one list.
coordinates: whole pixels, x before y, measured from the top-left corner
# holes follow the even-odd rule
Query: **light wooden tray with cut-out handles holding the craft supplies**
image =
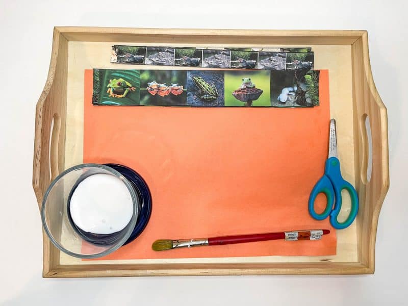
[[(33, 187), (39, 207), (50, 181), (83, 161), (84, 69), (118, 67), (109, 62), (113, 44), (311, 46), (315, 69), (329, 69), (330, 115), (342, 122), (338, 126), (339, 147), (348, 148), (339, 152), (342, 174), (359, 193), (360, 211), (356, 222), (337, 231), (336, 256), (326, 257), (90, 262), (66, 256), (43, 233), (44, 277), (374, 272), (378, 215), (389, 187), (388, 131), (387, 109), (372, 79), (366, 31), (55, 28), (48, 79), (36, 108)], [(120, 65), (121, 69), (136, 67)], [(366, 131), (367, 117), (372, 141)], [(367, 180), (370, 161), (372, 175)]]

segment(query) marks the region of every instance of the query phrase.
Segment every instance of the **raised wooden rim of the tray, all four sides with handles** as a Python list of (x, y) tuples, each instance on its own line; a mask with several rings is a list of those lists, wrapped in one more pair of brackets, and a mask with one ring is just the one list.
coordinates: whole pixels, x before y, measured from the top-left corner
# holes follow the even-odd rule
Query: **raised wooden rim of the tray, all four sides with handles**
[[(56, 73), (58, 65), (64, 65), (64, 56), (61, 52), (67, 47), (68, 41), (132, 41), (135, 35), (143, 37), (162, 37), (170, 35), (180, 37), (202, 37), (217, 36), (228, 38), (230, 36), (245, 37), (273, 37), (282, 40), (285, 37), (288, 41), (296, 41), (296, 44), (307, 43), (308, 39), (314, 39), (314, 44), (346, 44), (354, 49), (361, 49), (363, 54), (363, 66), (365, 79), (369, 92), (372, 95), (375, 107), (380, 114), (381, 131), (381, 182), (377, 184), (375, 201), (372, 204), (371, 224), (369, 224), (369, 252), (362, 256), (358, 263), (252, 263), (247, 264), (123, 264), (123, 265), (92, 265), (93, 267), (77, 265), (60, 265), (56, 262), (52, 254), (56, 248), (49, 242), (43, 233), (43, 276), (44, 277), (94, 277), (94, 276), (140, 276), (140, 275), (241, 275), (241, 274), (368, 274), (374, 272), (374, 249), (376, 227), (379, 211), (389, 188), (388, 169), (388, 131), (387, 131), (387, 109), (375, 88), (372, 78), (371, 67), (368, 55), (368, 35), (367, 31), (342, 31), (342, 30), (213, 30), (213, 29), (137, 29), (137, 28), (98, 28), (98, 27), (56, 27), (54, 29), (52, 58), (44, 90), (38, 100), (36, 107), (36, 133), (34, 145), (33, 164), (33, 187), (37, 196), (38, 206), (41, 207), (44, 188), (49, 183), (50, 177), (55, 177), (62, 169), (63, 163), (57, 157), (63, 156), (61, 143), (52, 143), (50, 159), (58, 160), (58, 164), (51, 162), (51, 174), (44, 176), (44, 156), (48, 157), (47, 135), (49, 135), (50, 123), (47, 122), (46, 103), (47, 99), (55, 98), (58, 95), (64, 96), (64, 89), (61, 86), (60, 93), (53, 93), (53, 84), (58, 82)], [(290, 38), (290, 39), (288, 39)], [(272, 39), (273, 40), (273, 39)], [(248, 42), (245, 42), (248, 44)], [(352, 59), (356, 61), (356, 59)], [(66, 72), (66, 71), (64, 71)], [(63, 73), (62, 77), (63, 78)], [(354, 86), (354, 82), (353, 82)], [(50, 94), (51, 93), (51, 94)], [(65, 92), (66, 95), (66, 92)], [(48, 103), (49, 104), (49, 103)], [(55, 111), (55, 110), (51, 110)], [(64, 110), (60, 110), (64, 114)], [(49, 115), (49, 114), (48, 114)], [(65, 115), (65, 114), (64, 114)], [(54, 118), (57, 129), (53, 133), (64, 134), (64, 124), (61, 118)], [(54, 136), (54, 134), (53, 134)], [(56, 137), (58, 138), (58, 137)], [(54, 137), (53, 137), (54, 139)], [(44, 149), (45, 148), (45, 149)], [(45, 154), (46, 153), (46, 154)], [(47, 165), (47, 168), (49, 166)], [(48, 172), (48, 169), (47, 169)], [(45, 183), (46, 182), (46, 183)], [(366, 258), (364, 258), (366, 257)]]

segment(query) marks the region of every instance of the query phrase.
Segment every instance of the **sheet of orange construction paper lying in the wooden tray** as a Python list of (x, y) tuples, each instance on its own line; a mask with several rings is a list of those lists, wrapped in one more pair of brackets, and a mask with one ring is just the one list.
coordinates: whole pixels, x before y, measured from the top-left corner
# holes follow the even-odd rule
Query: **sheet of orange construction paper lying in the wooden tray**
[[(84, 163), (118, 163), (146, 181), (152, 213), (133, 242), (101, 259), (325, 256), (328, 219), (309, 194), (327, 159), (328, 71), (314, 108), (93, 106), (85, 70)], [(325, 197), (319, 196), (321, 211)], [(318, 209), (317, 209), (318, 211)], [(266, 241), (156, 252), (157, 239), (327, 228), (320, 241)]]

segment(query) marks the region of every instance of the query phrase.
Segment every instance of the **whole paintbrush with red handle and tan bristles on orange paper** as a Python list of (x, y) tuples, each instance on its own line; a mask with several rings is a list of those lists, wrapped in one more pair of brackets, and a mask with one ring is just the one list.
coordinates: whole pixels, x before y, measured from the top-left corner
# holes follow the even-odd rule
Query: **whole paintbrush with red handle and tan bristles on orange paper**
[(182, 239), (182, 240), (160, 239), (156, 240), (151, 245), (151, 248), (154, 249), (155, 251), (163, 251), (179, 247), (192, 247), (199, 245), (222, 245), (278, 239), (285, 239), (286, 241), (320, 240), (323, 235), (326, 235), (328, 233), (330, 233), (329, 230), (307, 230), (307, 231), (303, 230), (279, 233), (221, 236), (201, 239)]

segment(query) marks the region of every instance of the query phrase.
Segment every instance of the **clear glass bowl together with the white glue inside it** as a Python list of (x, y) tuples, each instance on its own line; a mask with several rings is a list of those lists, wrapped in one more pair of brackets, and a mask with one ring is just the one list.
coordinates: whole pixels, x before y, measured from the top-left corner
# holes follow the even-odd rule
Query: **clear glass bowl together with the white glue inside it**
[(62, 172), (48, 187), (41, 219), (49, 239), (77, 258), (106, 256), (122, 246), (135, 228), (139, 197), (115, 169), (82, 164)]

